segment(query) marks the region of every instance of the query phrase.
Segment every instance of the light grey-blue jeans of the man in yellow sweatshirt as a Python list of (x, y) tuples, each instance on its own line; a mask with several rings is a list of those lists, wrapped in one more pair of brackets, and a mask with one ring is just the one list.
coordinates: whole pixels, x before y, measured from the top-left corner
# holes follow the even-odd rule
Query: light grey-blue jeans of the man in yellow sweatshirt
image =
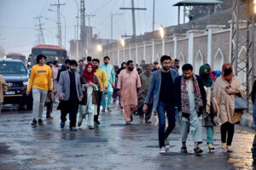
[(32, 117), (33, 119), (42, 119), (43, 118), (43, 111), (44, 111), (44, 103), (47, 97), (48, 91), (42, 90), (39, 88), (32, 89), (32, 96), (33, 96), (33, 111)]

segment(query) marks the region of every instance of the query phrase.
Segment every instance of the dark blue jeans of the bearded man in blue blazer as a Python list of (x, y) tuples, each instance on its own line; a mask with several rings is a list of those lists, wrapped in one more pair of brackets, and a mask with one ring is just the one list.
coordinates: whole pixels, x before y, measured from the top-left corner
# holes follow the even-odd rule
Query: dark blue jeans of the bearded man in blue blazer
[[(159, 146), (160, 148), (165, 146), (165, 140), (168, 138), (169, 134), (172, 133), (175, 127), (175, 107), (170, 103), (159, 102), (156, 109), (159, 119)], [(168, 127), (166, 128), (166, 116), (168, 119)]]

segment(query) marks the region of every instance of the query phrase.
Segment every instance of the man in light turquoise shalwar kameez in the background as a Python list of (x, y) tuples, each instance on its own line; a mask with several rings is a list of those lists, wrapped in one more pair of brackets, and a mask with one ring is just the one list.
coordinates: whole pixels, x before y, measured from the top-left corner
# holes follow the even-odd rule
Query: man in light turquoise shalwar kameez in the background
[(112, 99), (112, 94), (113, 94), (115, 73), (113, 70), (113, 65), (109, 64), (109, 60), (110, 60), (109, 57), (105, 56), (104, 64), (100, 65), (100, 68), (103, 69), (107, 73), (107, 77), (108, 77), (108, 92), (107, 92), (108, 97), (106, 96), (106, 94), (102, 95), (102, 107), (103, 107), (102, 112), (105, 112), (106, 108), (107, 108), (108, 112), (111, 112), (109, 109), (109, 104), (110, 104), (110, 101)]

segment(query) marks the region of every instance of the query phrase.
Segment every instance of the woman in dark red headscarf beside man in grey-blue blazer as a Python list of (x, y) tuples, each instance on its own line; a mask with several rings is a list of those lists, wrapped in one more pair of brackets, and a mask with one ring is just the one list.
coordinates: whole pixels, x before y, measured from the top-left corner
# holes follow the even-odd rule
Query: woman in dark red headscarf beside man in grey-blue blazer
[(96, 115), (97, 107), (97, 94), (96, 91), (99, 90), (100, 83), (95, 76), (96, 69), (91, 63), (88, 63), (84, 72), (80, 77), (81, 87), (84, 94), (84, 98), (80, 101), (79, 107), (79, 127), (81, 126), (85, 115), (88, 114), (88, 127), (94, 129), (93, 118)]

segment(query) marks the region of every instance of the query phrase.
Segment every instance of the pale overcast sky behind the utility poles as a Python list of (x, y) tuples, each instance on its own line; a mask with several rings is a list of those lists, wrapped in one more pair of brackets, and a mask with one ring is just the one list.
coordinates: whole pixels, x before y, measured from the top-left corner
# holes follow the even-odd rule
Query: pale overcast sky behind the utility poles
[[(145, 31), (152, 31), (153, 0), (134, 0), (135, 7), (148, 8), (146, 11), (136, 12), (137, 35)], [(172, 26), (177, 24), (177, 7), (172, 7), (179, 0), (155, 0), (155, 29), (160, 25)], [(55, 21), (56, 13), (50, 12), (51, 8), (56, 10), (50, 3), (57, 0), (1, 0), (0, 1), (0, 46), (5, 53), (30, 54), (31, 48), (36, 44), (36, 25), (38, 20), (34, 17), (44, 16), (51, 20), (42, 19), (44, 23), (44, 39), (46, 44), (57, 45), (57, 27)], [(67, 20), (67, 50), (69, 41), (75, 37), (74, 26), (78, 8), (75, 0), (60, 0), (66, 3), (61, 6), (61, 14)], [(80, 4), (80, 1), (77, 0)], [(110, 38), (110, 20), (113, 17), (113, 38), (119, 39), (125, 33), (132, 34), (131, 10), (120, 10), (121, 7), (131, 7), (131, 0), (85, 0), (85, 13), (96, 14), (90, 19), (90, 26), (95, 26), (94, 33), (99, 33), (102, 38)], [(65, 22), (61, 17), (62, 44), (65, 45)], [(88, 19), (85, 20), (88, 26)], [(53, 43), (52, 43), (53, 42)]]

